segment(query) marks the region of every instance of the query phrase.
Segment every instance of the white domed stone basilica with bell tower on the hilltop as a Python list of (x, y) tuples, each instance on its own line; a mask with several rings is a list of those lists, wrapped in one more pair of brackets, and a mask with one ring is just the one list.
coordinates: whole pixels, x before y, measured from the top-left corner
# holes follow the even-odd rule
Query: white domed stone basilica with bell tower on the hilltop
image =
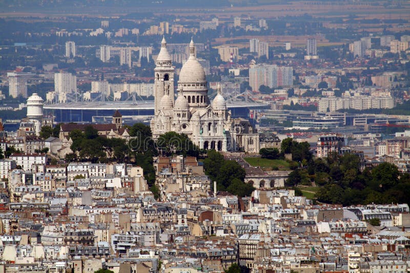
[(154, 138), (175, 131), (185, 133), (201, 149), (259, 152), (259, 134), (249, 121), (232, 119), (227, 103), (218, 94), (208, 98), (205, 72), (195, 57), (195, 46), (189, 44), (189, 59), (183, 64), (174, 99), (174, 67), (165, 38), (161, 42), (155, 67), (155, 115), (151, 120)]

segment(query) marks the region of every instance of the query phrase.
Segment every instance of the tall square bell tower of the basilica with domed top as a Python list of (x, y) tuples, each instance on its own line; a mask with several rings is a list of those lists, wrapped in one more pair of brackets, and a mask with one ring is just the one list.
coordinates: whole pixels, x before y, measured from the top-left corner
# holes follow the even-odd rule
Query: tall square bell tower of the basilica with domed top
[(174, 103), (174, 67), (172, 66), (171, 55), (167, 50), (167, 41), (165, 40), (165, 37), (162, 38), (161, 50), (156, 59), (154, 77), (154, 115), (156, 115), (160, 109), (159, 102), (164, 95), (170, 96), (172, 103)]

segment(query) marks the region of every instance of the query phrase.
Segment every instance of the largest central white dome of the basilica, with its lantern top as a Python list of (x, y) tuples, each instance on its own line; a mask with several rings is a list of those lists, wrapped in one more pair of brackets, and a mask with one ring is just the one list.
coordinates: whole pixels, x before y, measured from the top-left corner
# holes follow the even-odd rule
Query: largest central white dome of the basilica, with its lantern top
[(179, 73), (179, 82), (196, 82), (206, 81), (205, 71), (202, 65), (195, 58), (195, 45), (191, 40), (189, 44), (189, 58), (182, 65), (181, 72)]

